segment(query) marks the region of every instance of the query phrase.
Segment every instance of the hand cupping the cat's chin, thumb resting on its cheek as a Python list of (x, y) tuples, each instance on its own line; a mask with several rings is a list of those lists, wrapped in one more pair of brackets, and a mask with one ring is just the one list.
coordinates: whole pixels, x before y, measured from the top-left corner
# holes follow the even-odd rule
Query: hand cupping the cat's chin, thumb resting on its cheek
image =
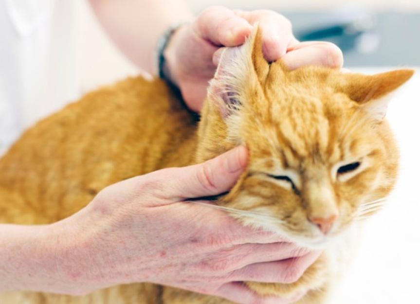
[(293, 282), (319, 252), (185, 201), (229, 190), (246, 162), (246, 149), (237, 147), (202, 164), (127, 179), (53, 224), (60, 239), (68, 241), (55, 250), (57, 263), (52, 264), (58, 265), (60, 277), (72, 281), (59, 285), (73, 288), (59, 292), (152, 282), (243, 304), (295, 301), (261, 297), (238, 282)]

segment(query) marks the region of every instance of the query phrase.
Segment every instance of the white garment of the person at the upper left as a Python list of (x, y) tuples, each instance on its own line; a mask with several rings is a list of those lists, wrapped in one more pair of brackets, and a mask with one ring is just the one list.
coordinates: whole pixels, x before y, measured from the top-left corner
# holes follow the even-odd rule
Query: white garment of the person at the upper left
[(0, 0), (0, 153), (79, 96), (75, 1)]

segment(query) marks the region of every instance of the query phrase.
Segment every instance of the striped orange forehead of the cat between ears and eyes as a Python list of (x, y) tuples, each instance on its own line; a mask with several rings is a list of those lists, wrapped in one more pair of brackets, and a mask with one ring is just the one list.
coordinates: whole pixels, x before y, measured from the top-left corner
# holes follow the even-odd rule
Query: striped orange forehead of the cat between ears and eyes
[(299, 167), (304, 161), (335, 162), (349, 154), (357, 142), (347, 132), (357, 121), (355, 109), (345, 96), (317, 89), (282, 86), (267, 90), (258, 113), (248, 116), (254, 133), (257, 158), (275, 158), (282, 167)]

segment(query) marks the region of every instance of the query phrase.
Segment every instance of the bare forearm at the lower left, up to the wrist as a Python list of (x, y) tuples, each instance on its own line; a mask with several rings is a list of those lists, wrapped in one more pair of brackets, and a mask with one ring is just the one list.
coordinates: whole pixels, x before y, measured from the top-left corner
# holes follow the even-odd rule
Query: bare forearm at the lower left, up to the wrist
[(86, 231), (76, 214), (50, 225), (0, 224), (0, 292), (85, 294), (100, 287), (92, 278)]

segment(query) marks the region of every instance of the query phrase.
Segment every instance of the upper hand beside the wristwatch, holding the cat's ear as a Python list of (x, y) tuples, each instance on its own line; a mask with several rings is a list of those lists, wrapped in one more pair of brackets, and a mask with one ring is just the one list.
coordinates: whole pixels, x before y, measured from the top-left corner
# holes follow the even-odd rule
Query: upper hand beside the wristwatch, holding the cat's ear
[(306, 65), (342, 67), (343, 54), (337, 46), (329, 42), (300, 43), (292, 34), (290, 21), (274, 11), (210, 7), (191, 24), (180, 27), (164, 53), (169, 77), (181, 89), (188, 107), (200, 111), (222, 48), (241, 45), (256, 22), (268, 61), (282, 58), (291, 70)]

